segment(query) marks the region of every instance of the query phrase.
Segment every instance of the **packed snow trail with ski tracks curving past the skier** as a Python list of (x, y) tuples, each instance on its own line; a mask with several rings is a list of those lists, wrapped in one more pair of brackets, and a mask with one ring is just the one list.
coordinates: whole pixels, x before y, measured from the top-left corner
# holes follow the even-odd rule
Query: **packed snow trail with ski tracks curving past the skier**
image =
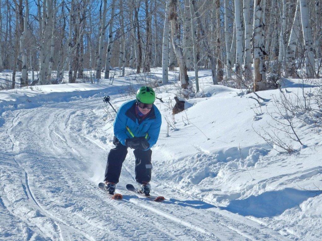
[(100, 102), (87, 98), (7, 113), (2, 128), (11, 143), (0, 140), (8, 167), (0, 206), (12, 215), (12, 226), (25, 227), (25, 240), (289, 240), (238, 214), (185, 205), (180, 200), (192, 200), (189, 195), (159, 180), (154, 191), (168, 199), (164, 203), (133, 195), (125, 189), (134, 182), (127, 163), (131, 151), (118, 185), (124, 200), (107, 198), (90, 177), (105, 168), (113, 145), (102, 146), (82, 132)]

